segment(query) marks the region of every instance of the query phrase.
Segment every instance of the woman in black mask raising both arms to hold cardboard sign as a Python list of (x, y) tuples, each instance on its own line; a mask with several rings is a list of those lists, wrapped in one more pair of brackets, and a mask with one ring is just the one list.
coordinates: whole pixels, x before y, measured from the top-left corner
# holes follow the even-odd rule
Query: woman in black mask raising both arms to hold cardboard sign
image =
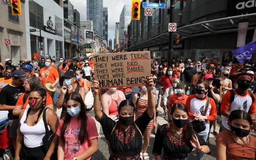
[[(124, 100), (118, 107), (119, 121), (115, 122), (101, 111), (99, 100), (99, 82), (94, 81), (94, 113), (101, 123), (103, 133), (109, 140), (112, 154), (109, 160), (140, 160), (142, 149), (142, 136), (154, 117), (155, 97), (153, 94), (153, 77), (147, 80), (148, 109), (136, 121), (134, 121), (135, 107), (131, 101)], [(126, 135), (126, 136), (124, 136)]]

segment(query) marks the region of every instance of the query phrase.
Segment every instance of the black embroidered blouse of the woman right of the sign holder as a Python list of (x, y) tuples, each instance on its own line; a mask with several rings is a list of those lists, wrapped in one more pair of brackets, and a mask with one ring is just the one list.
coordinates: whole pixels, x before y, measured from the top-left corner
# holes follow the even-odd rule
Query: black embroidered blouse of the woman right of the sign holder
[[(170, 124), (171, 125), (171, 124)], [(200, 145), (208, 145), (203, 139), (198, 137)], [(192, 151), (193, 147), (190, 142), (184, 142), (173, 133), (167, 124), (161, 125), (155, 135), (155, 143), (153, 147), (154, 155), (161, 155), (162, 148), (164, 148), (165, 160), (184, 159), (186, 160), (188, 154)]]

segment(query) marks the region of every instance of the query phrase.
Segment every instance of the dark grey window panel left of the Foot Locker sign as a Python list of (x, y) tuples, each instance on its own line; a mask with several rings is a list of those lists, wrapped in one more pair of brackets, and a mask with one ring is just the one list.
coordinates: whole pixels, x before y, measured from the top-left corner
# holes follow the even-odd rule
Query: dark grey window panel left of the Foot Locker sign
[(29, 0), (29, 22), (31, 27), (43, 30), (43, 7)]

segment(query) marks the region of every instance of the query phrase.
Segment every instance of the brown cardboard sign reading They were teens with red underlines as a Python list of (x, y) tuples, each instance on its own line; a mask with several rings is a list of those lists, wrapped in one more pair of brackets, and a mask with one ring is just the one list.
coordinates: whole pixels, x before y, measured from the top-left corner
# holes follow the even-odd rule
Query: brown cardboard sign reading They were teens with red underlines
[(100, 88), (143, 86), (150, 76), (149, 51), (95, 54), (93, 62)]

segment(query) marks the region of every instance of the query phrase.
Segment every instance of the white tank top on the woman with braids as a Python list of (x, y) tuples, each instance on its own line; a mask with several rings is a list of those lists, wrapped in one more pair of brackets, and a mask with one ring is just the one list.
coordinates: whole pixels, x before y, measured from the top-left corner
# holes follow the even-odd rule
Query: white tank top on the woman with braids
[[(45, 135), (45, 128), (43, 123), (43, 117), (39, 119), (35, 126), (28, 126), (27, 123), (24, 123), (27, 117), (27, 110), (25, 110), (23, 116), (21, 117), (21, 127), (20, 131), (24, 135), (24, 144), (28, 148), (35, 148), (43, 145), (43, 136)], [(42, 112), (43, 114), (43, 112)], [(49, 131), (51, 130), (48, 125)]]

